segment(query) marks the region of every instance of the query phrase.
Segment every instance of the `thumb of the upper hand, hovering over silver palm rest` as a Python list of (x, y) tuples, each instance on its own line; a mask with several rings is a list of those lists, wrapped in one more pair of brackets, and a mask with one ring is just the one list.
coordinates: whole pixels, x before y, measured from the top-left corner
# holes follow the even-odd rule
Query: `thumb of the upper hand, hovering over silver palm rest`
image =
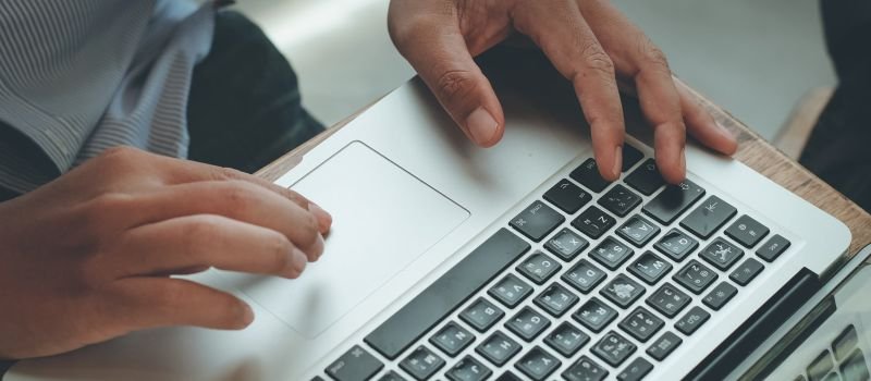
[(505, 127), (502, 106), (456, 22), (419, 24), (395, 29), (397, 49), (469, 139), (481, 147), (495, 145)]

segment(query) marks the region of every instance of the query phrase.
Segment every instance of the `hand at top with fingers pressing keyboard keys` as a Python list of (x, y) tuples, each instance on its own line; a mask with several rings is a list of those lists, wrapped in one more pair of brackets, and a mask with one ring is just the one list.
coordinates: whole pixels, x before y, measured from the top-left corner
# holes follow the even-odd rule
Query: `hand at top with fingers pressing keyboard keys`
[(514, 32), (529, 36), (578, 96), (602, 177), (619, 176), (624, 136), (616, 75), (633, 81), (655, 131), (657, 165), (670, 183), (684, 180), (686, 133), (732, 155), (737, 143), (684, 89), (662, 51), (603, 0), (392, 0), (390, 35), (400, 52), (459, 125), (482, 147), (495, 145), (505, 119), (473, 61)]

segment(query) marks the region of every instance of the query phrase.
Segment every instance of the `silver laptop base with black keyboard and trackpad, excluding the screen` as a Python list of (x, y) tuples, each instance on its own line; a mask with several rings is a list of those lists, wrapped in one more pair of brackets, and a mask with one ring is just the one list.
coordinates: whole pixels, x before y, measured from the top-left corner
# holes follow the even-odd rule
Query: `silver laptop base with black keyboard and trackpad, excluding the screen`
[(849, 230), (736, 160), (690, 143), (664, 184), (631, 98), (604, 182), (571, 86), (527, 56), (481, 60), (493, 148), (413, 79), (281, 176), (333, 214), (320, 261), (188, 276), (249, 303), (247, 329), (135, 332), (5, 380), (720, 379), (838, 273)]

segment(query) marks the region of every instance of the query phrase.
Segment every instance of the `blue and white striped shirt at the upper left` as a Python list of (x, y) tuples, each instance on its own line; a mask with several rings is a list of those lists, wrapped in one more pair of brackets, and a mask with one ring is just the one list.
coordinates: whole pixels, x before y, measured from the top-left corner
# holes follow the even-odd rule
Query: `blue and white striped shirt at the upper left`
[(0, 124), (52, 167), (0, 139), (0, 187), (29, 192), (119, 145), (185, 158), (213, 12), (184, 0), (0, 0)]

